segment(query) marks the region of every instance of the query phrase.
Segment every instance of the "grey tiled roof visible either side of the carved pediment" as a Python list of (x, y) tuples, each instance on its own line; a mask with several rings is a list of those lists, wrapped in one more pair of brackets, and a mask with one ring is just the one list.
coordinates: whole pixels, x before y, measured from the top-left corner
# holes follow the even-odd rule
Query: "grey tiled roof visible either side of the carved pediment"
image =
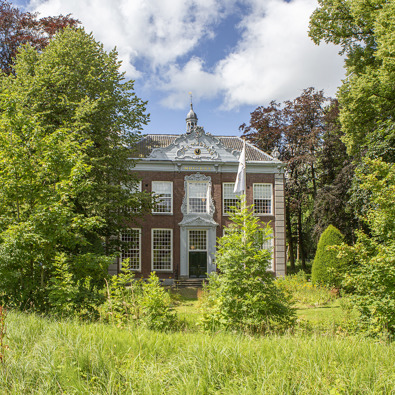
[[(174, 140), (180, 137), (177, 134), (147, 134), (137, 144), (138, 157), (146, 158), (154, 148), (164, 148), (174, 143)], [(243, 140), (236, 136), (213, 136), (220, 140), (226, 147), (236, 151), (243, 149)], [(275, 159), (260, 149), (254, 147), (252, 144), (246, 144), (246, 160), (247, 161), (269, 161), (273, 162)]]

